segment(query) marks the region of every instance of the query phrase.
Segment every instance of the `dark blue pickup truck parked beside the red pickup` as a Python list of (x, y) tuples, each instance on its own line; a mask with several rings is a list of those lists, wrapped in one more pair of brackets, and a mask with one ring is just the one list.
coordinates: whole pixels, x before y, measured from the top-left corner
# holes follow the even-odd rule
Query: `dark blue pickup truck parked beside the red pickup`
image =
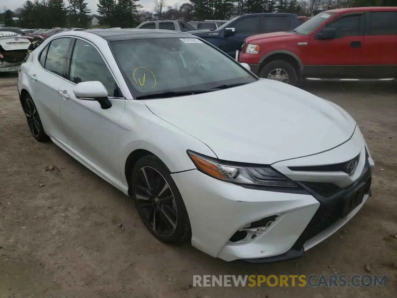
[(298, 27), (296, 14), (246, 14), (231, 19), (214, 31), (194, 31), (192, 34), (234, 57), (236, 50), (241, 50), (245, 39), (251, 35), (290, 31), (296, 27)]

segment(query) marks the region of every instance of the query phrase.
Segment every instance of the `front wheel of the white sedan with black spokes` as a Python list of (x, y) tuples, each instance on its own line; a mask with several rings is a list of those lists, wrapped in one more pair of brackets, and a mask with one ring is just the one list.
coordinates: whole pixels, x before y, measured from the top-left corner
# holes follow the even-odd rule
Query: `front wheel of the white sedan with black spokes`
[(130, 186), (139, 216), (158, 240), (178, 244), (190, 238), (189, 216), (182, 196), (160, 159), (154, 155), (139, 159)]

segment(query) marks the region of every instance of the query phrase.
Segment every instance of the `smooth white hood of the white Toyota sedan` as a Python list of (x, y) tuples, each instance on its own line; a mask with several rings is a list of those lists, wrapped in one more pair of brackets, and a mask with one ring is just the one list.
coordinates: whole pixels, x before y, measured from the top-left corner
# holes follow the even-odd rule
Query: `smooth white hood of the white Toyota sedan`
[(272, 164), (320, 153), (347, 141), (356, 126), (339, 106), (268, 79), (143, 102), (227, 161)]

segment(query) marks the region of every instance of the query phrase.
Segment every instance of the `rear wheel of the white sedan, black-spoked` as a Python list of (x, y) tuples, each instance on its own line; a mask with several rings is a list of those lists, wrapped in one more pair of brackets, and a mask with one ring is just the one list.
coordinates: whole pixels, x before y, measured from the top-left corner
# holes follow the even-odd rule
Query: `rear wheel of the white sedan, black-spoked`
[(39, 112), (37, 111), (36, 105), (33, 102), (32, 97), (28, 94), (22, 100), (23, 112), (25, 112), (27, 125), (33, 137), (38, 142), (45, 142), (50, 139), (44, 132), (43, 125), (40, 120)]

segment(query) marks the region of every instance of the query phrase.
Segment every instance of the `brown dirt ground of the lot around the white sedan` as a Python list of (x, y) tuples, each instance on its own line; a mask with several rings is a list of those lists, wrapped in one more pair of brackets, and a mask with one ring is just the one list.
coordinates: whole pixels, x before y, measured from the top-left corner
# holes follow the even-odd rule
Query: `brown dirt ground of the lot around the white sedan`
[[(31, 136), (15, 75), (0, 77), (0, 298), (367, 298), (397, 290), (397, 93), (389, 83), (306, 83), (353, 115), (375, 160), (373, 196), (301, 259), (227, 263), (158, 242), (128, 197)], [(277, 99), (275, 99), (277, 100)], [(46, 171), (46, 167), (55, 166)], [(122, 223), (124, 228), (117, 226)], [(193, 287), (193, 275), (387, 275), (386, 287)]]

